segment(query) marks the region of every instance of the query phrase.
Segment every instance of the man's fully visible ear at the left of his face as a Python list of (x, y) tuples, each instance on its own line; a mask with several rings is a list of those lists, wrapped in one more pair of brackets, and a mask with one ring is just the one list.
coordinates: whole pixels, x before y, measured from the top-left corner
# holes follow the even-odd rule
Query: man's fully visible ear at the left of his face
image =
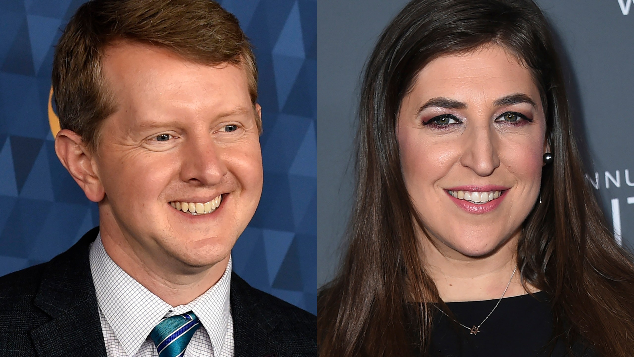
[(60, 130), (55, 137), (55, 152), (86, 197), (93, 202), (101, 201), (105, 191), (94, 163), (94, 153), (84, 145), (82, 138), (75, 131)]

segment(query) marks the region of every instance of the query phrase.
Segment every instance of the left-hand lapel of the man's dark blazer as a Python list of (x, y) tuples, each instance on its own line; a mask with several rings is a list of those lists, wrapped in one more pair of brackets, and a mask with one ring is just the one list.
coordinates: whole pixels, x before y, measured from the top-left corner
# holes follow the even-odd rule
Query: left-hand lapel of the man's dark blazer
[(93, 277), (88, 258), (98, 228), (47, 263), (34, 304), (51, 321), (31, 330), (41, 357), (106, 357)]

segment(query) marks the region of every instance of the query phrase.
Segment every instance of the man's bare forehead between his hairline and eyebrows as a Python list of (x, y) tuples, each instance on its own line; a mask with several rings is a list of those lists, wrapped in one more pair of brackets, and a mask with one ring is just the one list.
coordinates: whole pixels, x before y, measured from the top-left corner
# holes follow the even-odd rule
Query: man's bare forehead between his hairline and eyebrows
[(240, 65), (197, 64), (164, 48), (130, 42), (107, 48), (103, 59), (104, 86), (120, 109), (213, 107), (218, 115), (253, 110), (247, 73)]

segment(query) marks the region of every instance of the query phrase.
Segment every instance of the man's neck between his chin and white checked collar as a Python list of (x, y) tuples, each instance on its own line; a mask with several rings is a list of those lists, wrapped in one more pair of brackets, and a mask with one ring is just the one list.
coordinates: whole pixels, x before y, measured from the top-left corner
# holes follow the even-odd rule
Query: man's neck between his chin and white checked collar
[(122, 234), (100, 227), (101, 243), (110, 259), (134, 280), (171, 306), (188, 304), (223, 276), (230, 256), (210, 267), (184, 266), (171, 257), (153, 257), (132, 246)]

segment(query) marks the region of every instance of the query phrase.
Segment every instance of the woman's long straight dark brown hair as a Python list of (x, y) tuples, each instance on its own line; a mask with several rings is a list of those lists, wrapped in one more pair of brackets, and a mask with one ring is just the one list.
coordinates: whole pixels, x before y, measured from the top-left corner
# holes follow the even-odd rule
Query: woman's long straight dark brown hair
[[(409, 356), (413, 346), (426, 354), (434, 312), (420, 304), (412, 326), (405, 309), (442, 302), (420, 259), (415, 227), (422, 224), (401, 174), (396, 113), (431, 60), (488, 44), (504, 46), (533, 72), (554, 156), (543, 169), (542, 203), (517, 246), (522, 283), (547, 292), (553, 337), (567, 347), (634, 356), (634, 267), (585, 179), (549, 28), (531, 0), (415, 0), (384, 30), (361, 86), (348, 250), (318, 298), (321, 356)], [(412, 328), (420, 340), (411, 339)]]

